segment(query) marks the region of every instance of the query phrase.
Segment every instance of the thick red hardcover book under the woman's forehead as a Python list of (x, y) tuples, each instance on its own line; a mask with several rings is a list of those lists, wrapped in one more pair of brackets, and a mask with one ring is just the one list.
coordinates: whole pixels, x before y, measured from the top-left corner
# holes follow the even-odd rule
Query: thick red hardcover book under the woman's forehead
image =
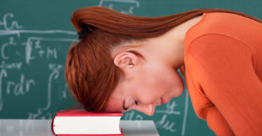
[(119, 123), (123, 114), (90, 113), (84, 109), (61, 110), (52, 119), (51, 130), (58, 136), (122, 136)]

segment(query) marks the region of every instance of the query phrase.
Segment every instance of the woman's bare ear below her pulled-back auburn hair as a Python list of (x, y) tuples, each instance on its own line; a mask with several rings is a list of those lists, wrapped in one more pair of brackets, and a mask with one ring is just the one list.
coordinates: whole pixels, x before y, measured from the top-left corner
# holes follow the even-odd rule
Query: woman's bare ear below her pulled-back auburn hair
[(139, 58), (131, 52), (121, 52), (115, 56), (115, 66), (119, 68), (132, 68), (138, 64)]

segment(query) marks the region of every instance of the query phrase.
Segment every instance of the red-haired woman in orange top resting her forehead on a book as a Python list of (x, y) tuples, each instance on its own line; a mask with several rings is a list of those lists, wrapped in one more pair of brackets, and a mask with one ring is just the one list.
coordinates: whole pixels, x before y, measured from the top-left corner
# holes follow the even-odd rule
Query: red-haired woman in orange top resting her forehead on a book
[(68, 50), (66, 81), (89, 112), (154, 114), (184, 91), (217, 135), (262, 135), (262, 24), (205, 8), (135, 17), (103, 7), (75, 10), (79, 42)]

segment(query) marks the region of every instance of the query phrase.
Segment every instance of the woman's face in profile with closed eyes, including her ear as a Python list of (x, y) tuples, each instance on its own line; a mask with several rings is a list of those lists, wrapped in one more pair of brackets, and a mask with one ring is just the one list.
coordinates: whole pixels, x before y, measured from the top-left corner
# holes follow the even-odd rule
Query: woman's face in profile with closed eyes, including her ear
[[(152, 116), (157, 105), (168, 103), (184, 91), (177, 70), (161, 61), (142, 61), (140, 57), (128, 52), (116, 58), (115, 64), (124, 70), (125, 76), (112, 91), (105, 112), (136, 109)], [(128, 109), (123, 109), (123, 106)]]

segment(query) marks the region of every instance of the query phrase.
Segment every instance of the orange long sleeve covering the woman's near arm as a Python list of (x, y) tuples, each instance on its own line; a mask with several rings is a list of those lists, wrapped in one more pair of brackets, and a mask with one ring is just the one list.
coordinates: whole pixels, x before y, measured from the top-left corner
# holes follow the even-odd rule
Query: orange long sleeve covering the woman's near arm
[(252, 49), (228, 36), (206, 34), (186, 52), (191, 80), (212, 103), (198, 110), (205, 114), (196, 114), (204, 115), (217, 135), (262, 135), (262, 83), (254, 68), (254, 61), (262, 60), (254, 60)]

